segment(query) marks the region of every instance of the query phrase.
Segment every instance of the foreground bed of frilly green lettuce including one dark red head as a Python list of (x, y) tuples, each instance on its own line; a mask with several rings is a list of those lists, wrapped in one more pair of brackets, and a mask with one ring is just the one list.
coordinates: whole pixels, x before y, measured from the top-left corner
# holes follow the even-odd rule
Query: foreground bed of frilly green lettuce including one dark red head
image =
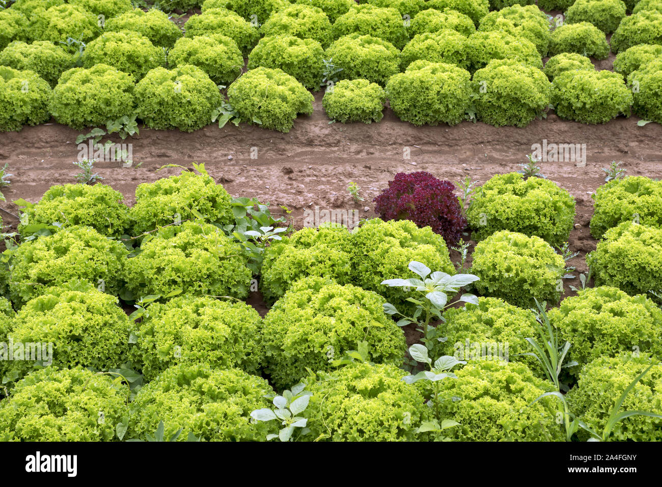
[[(451, 190), (414, 173), (427, 183), (408, 193), (404, 176), (377, 199), (381, 215), (402, 201), (424, 203), (430, 187)], [(662, 413), (661, 299), (649, 293), (662, 289), (662, 183), (614, 180), (594, 199), (591, 233), (600, 242), (587, 262), (597, 287), (548, 315), (572, 344), (567, 400), (598, 430), (650, 364), (625, 407)], [(351, 232), (304, 228), (272, 241), (257, 269), (234, 231), (232, 201), (205, 172), (183, 172), (138, 186), (130, 209), (99, 184), (54, 186), (39, 203), (21, 202), (22, 243), (10, 245), (0, 270), (9, 298), (0, 299), (0, 341), (24, 354), (7, 360), (9, 348), (0, 351), (2, 439), (148, 439), (164, 421), (166, 437), (262, 440), (278, 433), (277, 422), (250, 413), (300, 382), (312, 394), (303, 440), (564, 439), (554, 399), (532, 404), (553, 384), (526, 355), (526, 339), (538, 326), (534, 298), (555, 304), (563, 289), (565, 262), (553, 246), (567, 241), (575, 217), (565, 189), (495, 176), (465, 216), (434, 231), (395, 219)], [(448, 213), (437, 211), (438, 219)], [(467, 225), (479, 243), (471, 268), (455, 270), (448, 245)], [(470, 359), (434, 392), (402, 380), (406, 341), (384, 306), (410, 314), (414, 304), (381, 282), (411, 277), (413, 260), (479, 277), (477, 304), (446, 312), (446, 340), (430, 356), (455, 356), (458, 343), (506, 343), (507, 363)], [(242, 302), (256, 275), (273, 303), (263, 319)], [(128, 317), (118, 296), (144, 299)], [(53, 344), (48, 362), (12, 347), (42, 343)], [(459, 425), (429, 426), (444, 419)], [(659, 419), (629, 417), (614, 438), (659, 440), (661, 431)]]

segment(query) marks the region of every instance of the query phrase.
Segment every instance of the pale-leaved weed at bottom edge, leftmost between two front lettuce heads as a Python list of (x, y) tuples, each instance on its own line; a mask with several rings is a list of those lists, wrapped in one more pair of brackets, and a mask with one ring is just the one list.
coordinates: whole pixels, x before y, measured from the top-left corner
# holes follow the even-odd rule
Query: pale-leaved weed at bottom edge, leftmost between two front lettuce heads
[(281, 431), (277, 435), (273, 433), (267, 435), (267, 441), (276, 438), (280, 439), (280, 441), (294, 441), (296, 428), (301, 428), (297, 438), (307, 435), (310, 432), (310, 429), (306, 427), (308, 419), (300, 416), (308, 407), (310, 396), (312, 396), (311, 392), (304, 390), (305, 387), (306, 384), (297, 384), (292, 390), (285, 390), (283, 396), (275, 396), (273, 398), (275, 409), (263, 407), (250, 413), (250, 417), (254, 421), (271, 421), (273, 419), (279, 419), (281, 421), (281, 425), (283, 425)]

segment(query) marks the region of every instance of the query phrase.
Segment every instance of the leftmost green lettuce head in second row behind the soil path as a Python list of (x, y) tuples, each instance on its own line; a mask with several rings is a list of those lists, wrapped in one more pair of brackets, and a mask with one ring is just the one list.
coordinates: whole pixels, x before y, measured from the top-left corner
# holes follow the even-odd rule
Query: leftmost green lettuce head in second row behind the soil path
[(19, 71), (34, 71), (54, 87), (60, 75), (73, 67), (73, 60), (63, 48), (47, 40), (32, 44), (15, 40), (0, 52), (0, 65)]

